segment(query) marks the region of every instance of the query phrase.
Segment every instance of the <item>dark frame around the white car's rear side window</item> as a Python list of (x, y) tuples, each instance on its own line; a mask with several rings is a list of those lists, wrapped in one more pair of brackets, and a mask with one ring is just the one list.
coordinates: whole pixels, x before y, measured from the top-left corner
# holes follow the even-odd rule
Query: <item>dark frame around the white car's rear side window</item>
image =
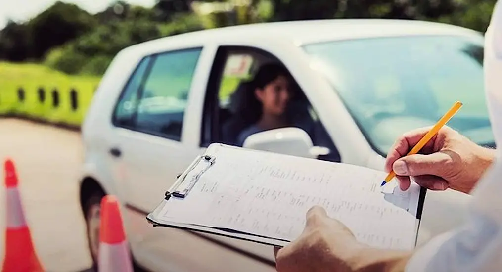
[[(179, 138), (178, 139), (173, 139), (174, 137), (169, 137), (169, 135), (166, 135), (165, 133), (159, 133), (159, 132), (155, 132), (155, 131), (148, 130), (148, 129), (138, 128), (136, 126), (137, 125), (137, 120), (138, 120), (137, 119), (137, 115), (138, 115), (137, 106), (136, 106), (136, 110), (134, 111), (134, 113), (131, 116), (131, 120), (130, 120), (131, 121), (130, 122), (131, 125), (118, 124), (117, 121), (116, 121), (116, 110), (117, 110), (120, 102), (124, 98), (124, 95), (126, 95), (126, 90), (129, 87), (129, 85), (132, 83), (133, 77), (136, 75), (138, 69), (140, 68), (140, 65), (142, 64), (142, 62), (145, 59), (149, 59), (148, 60), (148, 64), (147, 64), (148, 66), (147, 66), (147, 68), (145, 70), (145, 73), (143, 74), (143, 76), (141, 78), (141, 83), (138, 86), (138, 89), (135, 91), (136, 92), (136, 98), (138, 99), (138, 101), (140, 101), (140, 99), (143, 97), (143, 93), (144, 93), (144, 88), (145, 88), (146, 81), (147, 81), (147, 79), (148, 79), (148, 77), (149, 77), (149, 75), (151, 73), (152, 67), (154, 66), (155, 61), (157, 60), (157, 57), (159, 55), (165, 55), (165, 54), (177, 53), (177, 52), (184, 52), (184, 51), (191, 51), (191, 50), (199, 50), (200, 53), (199, 53), (199, 57), (197, 59), (197, 62), (195, 64), (195, 66), (194, 66), (194, 75), (192, 76), (192, 81), (190, 82), (190, 87), (189, 87), (189, 91), (188, 91), (188, 98), (187, 98), (187, 101), (188, 101), (188, 99), (190, 97), (190, 92), (192, 92), (192, 84), (193, 84), (193, 79), (195, 77), (195, 72), (197, 71), (197, 68), (200, 65), (200, 60), (202, 58), (202, 54), (203, 54), (203, 50), (204, 50), (203, 46), (193, 46), (193, 47), (186, 47), (186, 48), (180, 48), (180, 49), (173, 49), (173, 50), (156, 52), (156, 53), (153, 53), (153, 54), (149, 54), (149, 55), (143, 56), (140, 59), (140, 61), (136, 64), (136, 67), (135, 67), (134, 71), (129, 75), (127, 83), (124, 85), (124, 87), (120, 91), (120, 94), (118, 95), (117, 99), (115, 100), (115, 103), (114, 103), (114, 106), (113, 106), (112, 115), (111, 115), (111, 123), (112, 123), (112, 125), (114, 127), (117, 127), (117, 128), (124, 128), (124, 129), (128, 129), (128, 130), (136, 131), (136, 132), (141, 132), (141, 133), (145, 133), (145, 134), (149, 134), (149, 135), (154, 135), (156, 137), (160, 137), (160, 138), (163, 138), (163, 139), (166, 139), (166, 140), (170, 140), (170, 141), (174, 141), (174, 142), (177, 142), (177, 143), (181, 143), (182, 140), (183, 140), (183, 126), (185, 125), (184, 124), (184, 120), (183, 120), (183, 123), (182, 123), (182, 128), (181, 128), (181, 131), (180, 131)], [(184, 119), (184, 117), (183, 117), (183, 119)]]

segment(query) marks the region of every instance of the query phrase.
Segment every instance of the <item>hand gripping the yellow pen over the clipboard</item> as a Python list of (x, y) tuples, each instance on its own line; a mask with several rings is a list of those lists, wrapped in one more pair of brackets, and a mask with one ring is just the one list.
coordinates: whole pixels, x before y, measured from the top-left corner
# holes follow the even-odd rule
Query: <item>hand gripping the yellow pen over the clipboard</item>
[(470, 193), (493, 162), (495, 151), (480, 147), (445, 126), (421, 154), (406, 156), (429, 129), (413, 130), (398, 139), (387, 156), (386, 171), (394, 170), (402, 190), (408, 189), (412, 176), (419, 185), (431, 190), (451, 188)]

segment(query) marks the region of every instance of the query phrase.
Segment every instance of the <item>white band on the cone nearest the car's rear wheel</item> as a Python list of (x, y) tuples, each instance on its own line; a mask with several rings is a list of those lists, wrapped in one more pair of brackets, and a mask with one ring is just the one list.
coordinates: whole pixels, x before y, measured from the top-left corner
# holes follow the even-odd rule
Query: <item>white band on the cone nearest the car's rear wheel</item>
[(99, 244), (98, 272), (133, 272), (127, 241)]

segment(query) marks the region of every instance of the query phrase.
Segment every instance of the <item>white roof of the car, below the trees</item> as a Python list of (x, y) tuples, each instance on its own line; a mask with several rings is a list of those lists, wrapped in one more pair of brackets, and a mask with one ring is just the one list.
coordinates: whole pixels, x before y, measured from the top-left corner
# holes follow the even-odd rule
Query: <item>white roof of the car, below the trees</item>
[[(206, 29), (159, 38), (150, 42), (176, 40), (216, 41), (235, 35), (264, 38), (290, 38), (295, 44), (308, 44), (326, 40), (348, 40), (370, 37), (409, 35), (463, 35), (480, 36), (481, 33), (467, 28), (417, 20), (396, 19), (326, 19), (274, 23), (257, 23)], [(146, 42), (146, 43), (150, 43)], [(145, 43), (144, 43), (145, 44)]]

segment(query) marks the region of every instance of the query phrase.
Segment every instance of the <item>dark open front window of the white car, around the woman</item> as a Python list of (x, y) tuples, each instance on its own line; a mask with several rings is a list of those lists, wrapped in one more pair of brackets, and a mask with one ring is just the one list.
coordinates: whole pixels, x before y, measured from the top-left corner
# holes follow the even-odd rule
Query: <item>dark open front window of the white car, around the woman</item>
[[(250, 89), (247, 80), (253, 79), (257, 71), (268, 63), (284, 65), (277, 57), (260, 49), (220, 48), (212, 71), (218, 76), (214, 77), (213, 84), (208, 84), (206, 92), (206, 102), (214, 102), (206, 103), (203, 116), (205, 120), (213, 119), (202, 127), (203, 132), (210, 130), (210, 133), (202, 135), (201, 146), (214, 142), (241, 146), (239, 137), (242, 131), (255, 124), (261, 114), (261, 105), (250, 102), (254, 90)], [(290, 81), (292, 96), (285, 114), (291, 120), (291, 126), (305, 130), (315, 146), (330, 150), (329, 154), (318, 159), (340, 162), (339, 152), (304, 90), (294, 76)]]

